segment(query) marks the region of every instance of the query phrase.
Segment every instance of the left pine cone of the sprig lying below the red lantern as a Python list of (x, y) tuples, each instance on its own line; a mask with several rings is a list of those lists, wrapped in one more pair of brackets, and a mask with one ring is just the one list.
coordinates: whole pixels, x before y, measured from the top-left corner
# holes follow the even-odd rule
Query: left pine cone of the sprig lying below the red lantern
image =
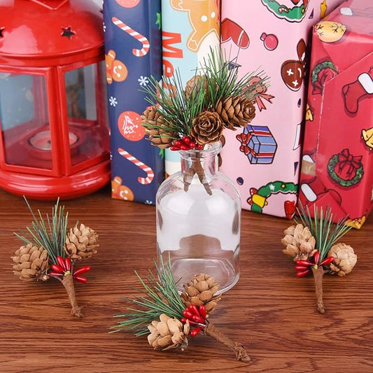
[(49, 279), (47, 274), (48, 251), (42, 247), (27, 244), (15, 251), (12, 257), (14, 274), (24, 281), (45, 281)]

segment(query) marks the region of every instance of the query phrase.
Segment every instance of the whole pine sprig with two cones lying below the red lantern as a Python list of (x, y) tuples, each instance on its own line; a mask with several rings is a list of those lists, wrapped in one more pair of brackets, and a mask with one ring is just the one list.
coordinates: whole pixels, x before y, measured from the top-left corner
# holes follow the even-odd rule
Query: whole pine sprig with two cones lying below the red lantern
[(24, 200), (34, 221), (31, 227), (26, 227), (29, 238), (14, 232), (25, 244), (12, 257), (14, 273), (23, 281), (47, 281), (54, 277), (62, 283), (69, 295), (71, 313), (82, 317), (76, 302), (73, 280), (87, 282), (82, 274), (88, 272), (90, 266), (74, 270), (73, 265), (76, 260), (90, 258), (97, 253), (95, 248), (98, 246), (98, 236), (90, 227), (83, 224), (78, 227), (78, 223), (67, 232), (68, 213), (65, 213), (64, 206), (59, 206), (59, 199), (52, 208), (52, 216), (47, 213), (46, 218), (39, 210), (36, 216), (26, 197)]

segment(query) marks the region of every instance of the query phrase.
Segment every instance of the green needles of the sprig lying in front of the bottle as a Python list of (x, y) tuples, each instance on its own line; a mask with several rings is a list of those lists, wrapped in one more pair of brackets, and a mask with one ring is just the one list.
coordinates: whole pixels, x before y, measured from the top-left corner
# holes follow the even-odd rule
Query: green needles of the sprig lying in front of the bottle
[(178, 293), (176, 282), (171, 272), (171, 260), (164, 265), (162, 259), (160, 260), (160, 267), (155, 263), (157, 271), (157, 278), (149, 270), (149, 275), (146, 279), (136, 273), (143, 288), (132, 288), (141, 295), (134, 296), (134, 298), (122, 298), (130, 304), (140, 307), (128, 307), (124, 314), (115, 315), (115, 318), (125, 318), (125, 320), (118, 321), (117, 325), (111, 327), (115, 329), (113, 332), (120, 331), (134, 331), (136, 337), (146, 335), (149, 333), (147, 326), (153, 321), (157, 320), (161, 314), (166, 314), (169, 317), (175, 317), (180, 320), (183, 317), (185, 305)]

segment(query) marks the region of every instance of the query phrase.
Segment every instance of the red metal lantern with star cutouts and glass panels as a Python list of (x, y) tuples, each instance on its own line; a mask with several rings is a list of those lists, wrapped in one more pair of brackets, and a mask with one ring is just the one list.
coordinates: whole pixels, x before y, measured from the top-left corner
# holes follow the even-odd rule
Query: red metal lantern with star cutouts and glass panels
[(108, 183), (103, 61), (91, 0), (1, 0), (0, 188), (66, 199)]

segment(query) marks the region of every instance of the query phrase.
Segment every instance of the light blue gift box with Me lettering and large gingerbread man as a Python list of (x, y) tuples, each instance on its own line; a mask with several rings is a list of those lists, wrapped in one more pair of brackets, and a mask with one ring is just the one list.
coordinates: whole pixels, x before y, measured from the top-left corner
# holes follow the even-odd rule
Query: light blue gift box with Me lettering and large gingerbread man
[[(183, 85), (195, 75), (210, 48), (219, 47), (220, 0), (162, 0), (163, 74), (180, 72)], [(166, 149), (167, 175), (180, 171), (177, 152)]]

